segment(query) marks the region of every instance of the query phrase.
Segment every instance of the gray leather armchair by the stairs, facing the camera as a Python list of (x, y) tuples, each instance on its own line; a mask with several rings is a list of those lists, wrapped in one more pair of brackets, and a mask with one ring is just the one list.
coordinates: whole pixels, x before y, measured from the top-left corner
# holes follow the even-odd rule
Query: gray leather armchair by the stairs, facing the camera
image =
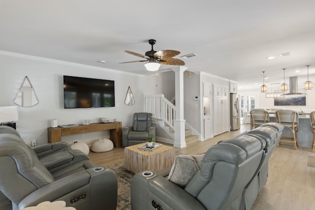
[(153, 136), (154, 142), (156, 141), (156, 127), (152, 126), (152, 114), (134, 113), (132, 127), (123, 128), (123, 147), (144, 143), (148, 136)]

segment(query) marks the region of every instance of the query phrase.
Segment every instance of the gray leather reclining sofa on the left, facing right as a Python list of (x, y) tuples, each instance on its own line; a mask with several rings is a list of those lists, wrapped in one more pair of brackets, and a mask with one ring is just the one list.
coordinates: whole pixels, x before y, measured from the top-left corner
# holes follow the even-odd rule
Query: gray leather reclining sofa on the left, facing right
[[(12, 202), (12, 210), (57, 200), (76, 210), (116, 210), (117, 178), (112, 170), (96, 166), (87, 155), (66, 144), (36, 150), (42, 160), (15, 130), (1, 127), (0, 190)], [(71, 155), (72, 159), (67, 158)], [(48, 162), (46, 167), (43, 163)]]

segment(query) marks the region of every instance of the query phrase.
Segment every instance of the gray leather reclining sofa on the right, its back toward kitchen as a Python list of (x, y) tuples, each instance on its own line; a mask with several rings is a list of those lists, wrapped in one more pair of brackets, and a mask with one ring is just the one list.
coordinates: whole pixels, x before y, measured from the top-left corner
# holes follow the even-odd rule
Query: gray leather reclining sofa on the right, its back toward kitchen
[[(283, 126), (266, 123), (212, 146), (193, 166), (188, 162), (176, 176), (154, 172), (136, 174), (131, 182), (132, 210), (250, 210), (267, 181), (268, 160), (282, 135)], [(179, 155), (177, 158), (187, 158)], [(176, 181), (200, 169), (183, 186)], [(173, 177), (177, 179), (172, 179)], [(172, 181), (171, 181), (172, 180)]]

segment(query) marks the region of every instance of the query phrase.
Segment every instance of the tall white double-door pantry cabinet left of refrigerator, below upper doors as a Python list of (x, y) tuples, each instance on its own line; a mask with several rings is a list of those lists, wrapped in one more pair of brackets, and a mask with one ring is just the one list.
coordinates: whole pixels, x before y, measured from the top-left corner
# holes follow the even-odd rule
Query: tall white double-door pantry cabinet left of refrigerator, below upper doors
[(229, 103), (227, 98), (214, 98), (214, 135), (229, 131)]

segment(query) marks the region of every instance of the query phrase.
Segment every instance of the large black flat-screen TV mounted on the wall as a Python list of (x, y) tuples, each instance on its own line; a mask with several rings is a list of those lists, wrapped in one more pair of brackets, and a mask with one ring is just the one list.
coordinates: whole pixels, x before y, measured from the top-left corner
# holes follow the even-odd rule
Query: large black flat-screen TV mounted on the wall
[(64, 75), (63, 104), (64, 109), (114, 107), (114, 81)]

